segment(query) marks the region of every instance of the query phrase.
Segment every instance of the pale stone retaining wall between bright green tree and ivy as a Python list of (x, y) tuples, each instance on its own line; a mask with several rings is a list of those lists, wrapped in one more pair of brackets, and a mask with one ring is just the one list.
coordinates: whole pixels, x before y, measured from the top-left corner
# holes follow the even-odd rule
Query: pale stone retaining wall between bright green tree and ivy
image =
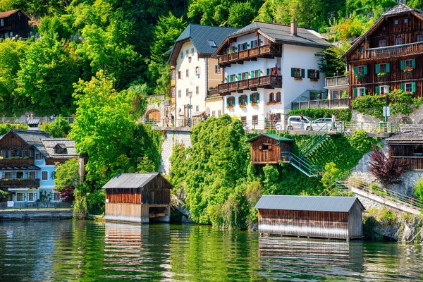
[(189, 130), (180, 128), (172, 128), (165, 130), (166, 137), (161, 144), (161, 165), (160, 172), (168, 174), (171, 171), (170, 158), (173, 152), (173, 146), (176, 144), (183, 144), (185, 147), (191, 147), (191, 136)]

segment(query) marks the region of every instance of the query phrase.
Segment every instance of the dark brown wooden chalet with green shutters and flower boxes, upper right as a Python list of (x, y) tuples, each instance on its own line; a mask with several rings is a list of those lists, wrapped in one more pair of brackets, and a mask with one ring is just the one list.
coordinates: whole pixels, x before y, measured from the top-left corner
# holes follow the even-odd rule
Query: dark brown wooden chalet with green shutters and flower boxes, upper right
[(401, 89), (422, 97), (423, 11), (398, 4), (355, 40), (343, 55), (350, 97)]

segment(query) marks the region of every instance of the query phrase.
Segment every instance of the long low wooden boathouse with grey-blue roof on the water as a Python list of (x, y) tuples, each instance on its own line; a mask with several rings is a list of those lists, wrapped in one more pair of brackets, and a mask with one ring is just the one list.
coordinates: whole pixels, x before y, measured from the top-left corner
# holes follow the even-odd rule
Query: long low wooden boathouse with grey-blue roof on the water
[(363, 238), (357, 197), (263, 195), (257, 202), (259, 232), (307, 238)]

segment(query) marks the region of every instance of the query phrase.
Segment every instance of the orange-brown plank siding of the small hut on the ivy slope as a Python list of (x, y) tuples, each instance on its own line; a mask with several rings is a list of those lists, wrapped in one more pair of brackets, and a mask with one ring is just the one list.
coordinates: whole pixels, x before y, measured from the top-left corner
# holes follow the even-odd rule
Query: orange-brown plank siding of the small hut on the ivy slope
[[(271, 137), (262, 136), (251, 142), (250, 153), (253, 164), (278, 164), (281, 152), (292, 152), (293, 142), (281, 142)], [(263, 144), (271, 144), (271, 149), (259, 149)]]

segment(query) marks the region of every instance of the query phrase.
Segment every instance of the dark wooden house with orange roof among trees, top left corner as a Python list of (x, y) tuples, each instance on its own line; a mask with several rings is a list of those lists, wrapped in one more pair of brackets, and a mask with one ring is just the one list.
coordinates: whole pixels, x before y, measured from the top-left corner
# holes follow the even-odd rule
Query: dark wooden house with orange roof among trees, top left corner
[(28, 17), (22, 10), (13, 10), (0, 13), (0, 38), (8, 37), (29, 37)]

